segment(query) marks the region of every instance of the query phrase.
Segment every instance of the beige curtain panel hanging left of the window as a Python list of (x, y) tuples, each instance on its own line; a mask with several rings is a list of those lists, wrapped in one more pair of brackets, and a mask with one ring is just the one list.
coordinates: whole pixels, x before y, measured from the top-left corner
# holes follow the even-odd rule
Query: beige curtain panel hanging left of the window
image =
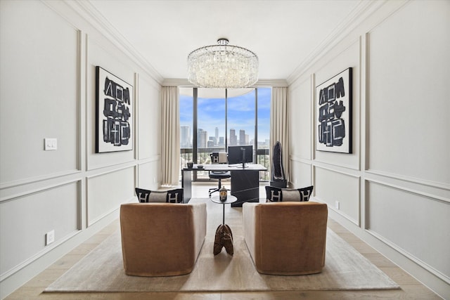
[(178, 185), (180, 171), (180, 107), (177, 86), (161, 91), (161, 184)]

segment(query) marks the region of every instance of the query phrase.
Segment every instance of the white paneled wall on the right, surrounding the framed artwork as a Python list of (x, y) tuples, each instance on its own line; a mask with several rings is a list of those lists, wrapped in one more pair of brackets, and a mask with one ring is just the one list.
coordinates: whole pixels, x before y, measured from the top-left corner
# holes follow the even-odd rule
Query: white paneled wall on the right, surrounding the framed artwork
[[(328, 204), (333, 219), (445, 299), (449, 53), (449, 1), (387, 1), (290, 81), (291, 183), (313, 183), (315, 200)], [(347, 67), (353, 152), (315, 151), (314, 86)]]

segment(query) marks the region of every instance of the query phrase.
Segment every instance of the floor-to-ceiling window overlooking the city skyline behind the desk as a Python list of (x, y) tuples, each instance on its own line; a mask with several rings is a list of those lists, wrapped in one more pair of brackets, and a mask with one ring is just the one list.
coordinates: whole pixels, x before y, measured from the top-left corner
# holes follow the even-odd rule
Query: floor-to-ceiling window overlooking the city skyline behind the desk
[[(252, 145), (253, 162), (269, 169), (271, 88), (179, 90), (181, 168), (209, 164), (211, 152), (226, 152), (229, 145)], [(195, 181), (208, 178), (195, 173)], [(260, 178), (269, 180), (269, 172)]]

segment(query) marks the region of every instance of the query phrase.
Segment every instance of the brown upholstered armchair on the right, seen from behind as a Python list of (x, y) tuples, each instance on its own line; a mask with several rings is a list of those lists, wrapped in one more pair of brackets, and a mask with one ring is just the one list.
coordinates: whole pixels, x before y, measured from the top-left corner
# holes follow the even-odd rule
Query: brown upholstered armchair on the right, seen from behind
[(328, 208), (318, 202), (243, 204), (243, 233), (259, 273), (303, 275), (325, 266)]

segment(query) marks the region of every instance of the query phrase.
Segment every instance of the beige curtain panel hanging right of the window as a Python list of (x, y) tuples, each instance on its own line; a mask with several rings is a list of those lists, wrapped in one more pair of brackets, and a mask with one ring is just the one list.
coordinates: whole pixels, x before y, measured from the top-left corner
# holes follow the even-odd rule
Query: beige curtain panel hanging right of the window
[(277, 141), (283, 150), (283, 168), (289, 182), (289, 93), (287, 87), (273, 87), (270, 115), (270, 151)]

